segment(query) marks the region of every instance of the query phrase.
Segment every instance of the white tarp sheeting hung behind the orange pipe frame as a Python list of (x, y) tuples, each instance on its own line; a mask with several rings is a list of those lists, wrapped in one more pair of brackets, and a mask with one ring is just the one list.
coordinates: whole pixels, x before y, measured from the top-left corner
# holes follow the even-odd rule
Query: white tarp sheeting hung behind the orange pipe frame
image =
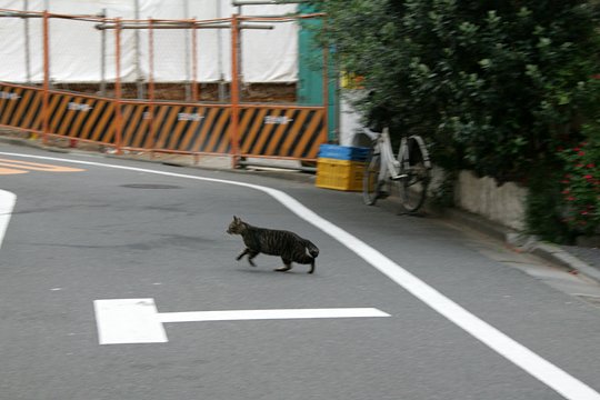
[[(99, 14), (136, 19), (213, 19), (238, 12), (230, 0), (0, 0), (1, 9), (52, 13)], [(244, 6), (244, 16), (281, 16), (294, 4)], [(94, 22), (50, 20), (50, 76), (58, 82), (102, 80), (102, 33)], [(263, 23), (264, 24), (264, 23)], [(242, 31), (242, 73), (248, 82), (289, 82), (298, 74), (298, 26), (268, 23), (272, 30)], [(26, 34), (29, 32), (29, 34)], [(231, 37), (229, 29), (198, 29), (197, 81), (229, 80)], [(27, 40), (29, 36), (29, 40)], [(192, 79), (192, 39), (189, 30), (154, 30), (154, 81)], [(138, 40), (139, 38), (139, 40)], [(0, 81), (40, 82), (43, 79), (42, 20), (0, 18)], [(139, 42), (139, 47), (137, 43)], [(147, 79), (150, 70), (147, 30), (123, 30), (121, 79)], [(114, 31), (106, 30), (104, 80), (116, 77)]]

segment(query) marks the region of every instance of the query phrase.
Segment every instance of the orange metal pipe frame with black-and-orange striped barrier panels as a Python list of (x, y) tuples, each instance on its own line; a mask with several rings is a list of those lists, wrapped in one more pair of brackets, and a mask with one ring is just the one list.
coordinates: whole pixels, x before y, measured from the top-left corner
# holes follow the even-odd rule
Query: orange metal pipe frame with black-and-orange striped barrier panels
[[(248, 3), (244, 3), (244, 6)], [(241, 6), (241, 2), (240, 2)], [(299, 19), (321, 18), (322, 13), (303, 16), (249, 17), (232, 14), (229, 18), (209, 20), (126, 20), (98, 16), (57, 14), (48, 11), (0, 10), (0, 18), (41, 18), (43, 43), (43, 81), (39, 86), (0, 82), (0, 91), (14, 96), (0, 97), (0, 126), (12, 127), (42, 136), (66, 137), (72, 141), (97, 142), (112, 147), (117, 153), (123, 150), (168, 152), (191, 156), (227, 154), (237, 168), (246, 157), (316, 160), (318, 147), (327, 142), (328, 126), (328, 53), (323, 50), (323, 104), (303, 107), (296, 104), (246, 103), (241, 101), (241, 31), (247, 29), (271, 30), (273, 24), (296, 22)], [(52, 87), (50, 79), (50, 29), (51, 19), (77, 20), (94, 23), (101, 32), (101, 96), (73, 93)], [(187, 47), (191, 60), (190, 98), (187, 101), (158, 101), (154, 96), (154, 32), (179, 29), (191, 31), (191, 46)], [(197, 60), (199, 57), (197, 31), (200, 29), (230, 31), (231, 36), (231, 80), (228, 103), (204, 103), (200, 100), (197, 82)], [(123, 30), (148, 31), (148, 99), (124, 99), (121, 82), (121, 36)], [(116, 78), (113, 96), (106, 96), (107, 51), (106, 32), (113, 31)], [(28, 77), (28, 81), (29, 81)], [(24, 93), (28, 92), (27, 96)], [(68, 99), (67, 99), (68, 98)], [(38, 114), (20, 114), (26, 104), (14, 106), (9, 101), (41, 103)], [(102, 109), (108, 117), (90, 122), (91, 114)], [(10, 113), (8, 112), (10, 110)], [(89, 112), (82, 117), (83, 112)], [(61, 114), (60, 118), (57, 116)], [(64, 117), (68, 116), (68, 117)], [(168, 119), (168, 121), (166, 121)], [(71, 124), (64, 126), (66, 121)], [(183, 121), (183, 122), (182, 122)], [(209, 127), (210, 121), (210, 127)], [(18, 122), (18, 123), (17, 123)], [(102, 123), (100, 123), (102, 122)], [(170, 124), (169, 124), (170, 123)], [(136, 127), (133, 127), (136, 124)], [(166, 128), (167, 126), (167, 128)], [(101, 130), (101, 131), (99, 131)], [(206, 143), (204, 143), (206, 142)]]

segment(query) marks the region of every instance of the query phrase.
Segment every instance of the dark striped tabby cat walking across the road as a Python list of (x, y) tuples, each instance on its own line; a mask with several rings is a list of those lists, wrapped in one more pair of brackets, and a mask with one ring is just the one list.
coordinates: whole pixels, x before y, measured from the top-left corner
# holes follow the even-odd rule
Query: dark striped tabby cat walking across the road
[(248, 262), (256, 267), (252, 259), (259, 253), (279, 256), (283, 261), (283, 267), (276, 271), (289, 271), (292, 262), (310, 264), (310, 271), (314, 272), (314, 259), (319, 256), (319, 249), (310, 240), (300, 238), (298, 234), (284, 230), (267, 229), (253, 227), (243, 222), (240, 218), (233, 217), (233, 221), (227, 230), (229, 234), (241, 234), (246, 249), (236, 260), (240, 260), (248, 254)]

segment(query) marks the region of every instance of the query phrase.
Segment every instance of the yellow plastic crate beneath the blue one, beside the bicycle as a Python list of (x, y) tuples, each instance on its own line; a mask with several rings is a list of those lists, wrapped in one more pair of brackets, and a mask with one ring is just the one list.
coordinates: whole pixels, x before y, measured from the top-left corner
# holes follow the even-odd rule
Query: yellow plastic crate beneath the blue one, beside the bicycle
[(364, 162), (319, 158), (316, 184), (326, 189), (361, 191), (363, 170)]

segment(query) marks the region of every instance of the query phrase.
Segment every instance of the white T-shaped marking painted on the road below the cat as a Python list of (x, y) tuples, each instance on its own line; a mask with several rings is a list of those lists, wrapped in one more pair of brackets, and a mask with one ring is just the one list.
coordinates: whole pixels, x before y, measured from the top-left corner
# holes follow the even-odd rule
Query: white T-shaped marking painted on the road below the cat
[(167, 342), (166, 322), (390, 317), (374, 308), (161, 312), (154, 299), (96, 300), (100, 344)]

